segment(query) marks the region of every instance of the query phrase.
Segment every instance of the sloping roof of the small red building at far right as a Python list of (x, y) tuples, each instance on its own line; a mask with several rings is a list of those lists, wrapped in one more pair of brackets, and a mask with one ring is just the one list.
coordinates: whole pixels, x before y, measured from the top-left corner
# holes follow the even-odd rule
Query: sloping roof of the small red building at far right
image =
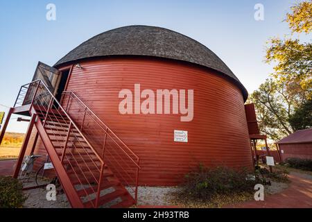
[(304, 144), (312, 143), (312, 128), (307, 130), (298, 130), (288, 137), (279, 140), (277, 144)]

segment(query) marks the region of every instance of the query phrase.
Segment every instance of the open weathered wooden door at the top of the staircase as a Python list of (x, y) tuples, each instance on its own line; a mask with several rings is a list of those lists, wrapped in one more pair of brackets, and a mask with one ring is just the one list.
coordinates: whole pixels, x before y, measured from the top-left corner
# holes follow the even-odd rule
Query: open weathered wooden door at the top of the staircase
[[(55, 95), (58, 84), (60, 82), (60, 71), (44, 64), (43, 62), (38, 62), (35, 74), (33, 75), (33, 81), (35, 80), (42, 80), (51, 93)], [(23, 105), (31, 103), (36, 86), (37, 83), (33, 83), (33, 85), (29, 86)]]

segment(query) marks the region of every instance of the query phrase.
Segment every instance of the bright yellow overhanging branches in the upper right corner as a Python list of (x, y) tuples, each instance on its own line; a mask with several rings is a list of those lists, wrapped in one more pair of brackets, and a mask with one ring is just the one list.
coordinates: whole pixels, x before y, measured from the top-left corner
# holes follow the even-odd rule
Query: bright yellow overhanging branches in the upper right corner
[[(297, 3), (291, 7), (292, 12), (286, 15), (293, 33), (312, 31), (312, 1)], [(272, 74), (277, 83), (298, 83), (312, 99), (312, 44), (286, 38), (273, 37), (266, 50), (266, 62), (277, 62)]]

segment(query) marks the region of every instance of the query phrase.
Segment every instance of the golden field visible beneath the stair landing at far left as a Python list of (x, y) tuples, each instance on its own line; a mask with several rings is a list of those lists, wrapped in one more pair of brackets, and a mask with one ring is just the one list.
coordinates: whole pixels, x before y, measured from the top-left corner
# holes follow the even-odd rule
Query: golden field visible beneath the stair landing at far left
[(24, 140), (24, 133), (6, 133), (0, 146), (0, 160), (17, 158)]

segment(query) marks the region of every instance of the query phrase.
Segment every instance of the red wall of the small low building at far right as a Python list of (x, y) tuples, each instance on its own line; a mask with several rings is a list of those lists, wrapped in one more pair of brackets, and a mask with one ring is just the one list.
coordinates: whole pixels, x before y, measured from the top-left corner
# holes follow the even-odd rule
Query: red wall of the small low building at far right
[(281, 151), (281, 157), (283, 161), (289, 157), (312, 160), (312, 143), (279, 144), (279, 150)]

